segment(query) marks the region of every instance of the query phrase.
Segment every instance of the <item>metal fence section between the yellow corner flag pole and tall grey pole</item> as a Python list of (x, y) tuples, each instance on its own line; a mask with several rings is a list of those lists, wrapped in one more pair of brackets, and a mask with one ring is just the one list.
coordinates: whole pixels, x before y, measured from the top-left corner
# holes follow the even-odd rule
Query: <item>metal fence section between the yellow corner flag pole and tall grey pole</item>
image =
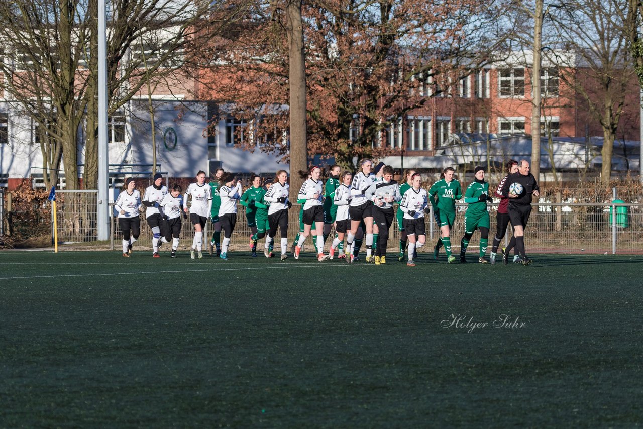
[(56, 214), (59, 242), (98, 240), (97, 190), (56, 191)]

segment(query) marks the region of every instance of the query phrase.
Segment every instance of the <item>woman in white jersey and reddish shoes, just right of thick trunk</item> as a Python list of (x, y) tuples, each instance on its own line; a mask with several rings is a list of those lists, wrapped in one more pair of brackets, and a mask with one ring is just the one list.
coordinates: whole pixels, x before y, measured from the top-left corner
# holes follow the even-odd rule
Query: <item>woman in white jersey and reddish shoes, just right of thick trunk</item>
[(294, 259), (299, 259), (303, 242), (311, 234), (312, 224), (315, 225), (317, 233), (317, 259), (321, 262), (327, 260), (328, 256), (323, 254), (323, 189), (321, 184), (321, 169), (316, 165), (309, 169), (311, 178), (303, 182), (299, 190), (297, 200), (305, 200), (303, 203), (303, 232), (299, 242), (294, 248)]

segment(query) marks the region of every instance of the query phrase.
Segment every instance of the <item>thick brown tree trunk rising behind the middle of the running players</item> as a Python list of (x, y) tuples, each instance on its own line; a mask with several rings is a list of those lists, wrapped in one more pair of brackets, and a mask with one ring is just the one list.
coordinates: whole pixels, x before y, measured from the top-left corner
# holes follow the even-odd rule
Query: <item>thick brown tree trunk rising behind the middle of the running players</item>
[(286, 6), (290, 89), (290, 199), (296, 201), (303, 180), (295, 173), (308, 166), (306, 140), (306, 65), (303, 48), (302, 1)]

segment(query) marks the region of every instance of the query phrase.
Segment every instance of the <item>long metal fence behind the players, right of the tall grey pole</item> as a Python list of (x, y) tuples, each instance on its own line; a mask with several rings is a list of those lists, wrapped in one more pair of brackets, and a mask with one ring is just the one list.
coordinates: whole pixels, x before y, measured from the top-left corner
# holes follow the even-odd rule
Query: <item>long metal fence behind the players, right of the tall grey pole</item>
[[(491, 232), (489, 233), (489, 248), (496, 232), (497, 204), (490, 205)], [(530, 253), (577, 252), (577, 253), (643, 253), (643, 204), (611, 204), (611, 203), (540, 203), (534, 204), (529, 224), (525, 230), (525, 244)], [(466, 204), (457, 204), (455, 224), (451, 230), (451, 242), (454, 248), (459, 248), (460, 239), (464, 234), (464, 212)], [(620, 213), (627, 211), (627, 213)], [(232, 234), (231, 246), (235, 250), (248, 249), (250, 228), (246, 221), (244, 208), (238, 206), (237, 225)], [(616, 223), (613, 223), (613, 221)], [(118, 219), (112, 218), (112, 241), (120, 245), (121, 231)], [(431, 249), (439, 236), (439, 228), (433, 215), (426, 215), (428, 246)], [(299, 206), (293, 206), (289, 212), (289, 243), (299, 230)], [(203, 248), (212, 237), (212, 224), (208, 221), (204, 233)], [(334, 231), (331, 232), (334, 236)], [(192, 246), (194, 228), (190, 220), (183, 221), (181, 229), (180, 248), (187, 250)], [(480, 233), (476, 232), (469, 243), (470, 251), (477, 251)], [(511, 228), (505, 235), (504, 241), (511, 238)], [(137, 246), (151, 249), (152, 232), (141, 214), (141, 235)], [(390, 230), (388, 250), (395, 251), (399, 242), (397, 220)], [(327, 240), (328, 248), (331, 240)], [(311, 248), (312, 241), (306, 241)], [(112, 248), (114, 245), (112, 244)]]

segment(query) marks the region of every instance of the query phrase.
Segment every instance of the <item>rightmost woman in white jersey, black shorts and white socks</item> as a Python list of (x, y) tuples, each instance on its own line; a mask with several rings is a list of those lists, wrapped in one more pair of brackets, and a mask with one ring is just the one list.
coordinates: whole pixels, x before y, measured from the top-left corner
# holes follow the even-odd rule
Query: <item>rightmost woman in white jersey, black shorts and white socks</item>
[(400, 208), (404, 212), (404, 230), (408, 236), (408, 262), (406, 265), (415, 266), (413, 255), (415, 248), (421, 248), (426, 242), (424, 213), (428, 204), (428, 194), (422, 189), (422, 176), (414, 173), (411, 177), (412, 187), (404, 192)]

